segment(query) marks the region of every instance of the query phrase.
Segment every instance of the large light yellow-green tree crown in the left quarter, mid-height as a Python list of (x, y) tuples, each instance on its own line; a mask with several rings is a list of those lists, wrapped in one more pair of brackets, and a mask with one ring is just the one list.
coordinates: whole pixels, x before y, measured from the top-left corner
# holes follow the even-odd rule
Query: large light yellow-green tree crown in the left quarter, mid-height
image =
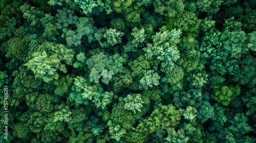
[[(46, 53), (48, 52), (48, 54)], [(67, 49), (65, 45), (45, 42), (39, 46), (37, 52), (25, 65), (32, 70), (36, 77), (43, 79), (45, 82), (57, 80), (59, 77), (58, 70), (67, 73), (66, 65), (72, 65), (74, 61), (74, 51)]]

